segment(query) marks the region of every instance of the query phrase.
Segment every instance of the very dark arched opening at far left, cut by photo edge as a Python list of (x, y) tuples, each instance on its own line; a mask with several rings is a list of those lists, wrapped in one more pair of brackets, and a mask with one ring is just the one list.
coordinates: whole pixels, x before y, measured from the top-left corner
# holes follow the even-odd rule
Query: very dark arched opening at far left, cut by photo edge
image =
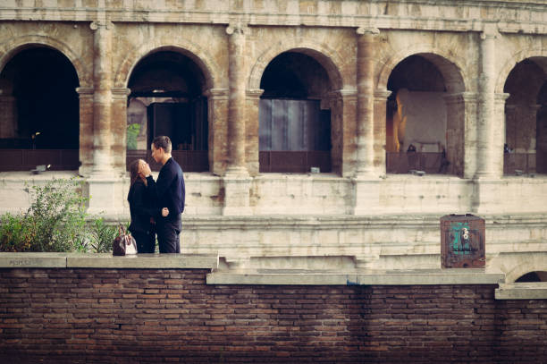
[(0, 73), (0, 171), (78, 169), (78, 74), (61, 52), (26, 47)]

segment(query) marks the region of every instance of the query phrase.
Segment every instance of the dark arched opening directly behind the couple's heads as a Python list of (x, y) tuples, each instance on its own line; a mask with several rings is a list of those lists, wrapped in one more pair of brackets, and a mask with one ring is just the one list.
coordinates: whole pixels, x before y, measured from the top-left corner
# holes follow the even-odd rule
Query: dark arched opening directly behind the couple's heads
[(150, 156), (152, 140), (167, 135), (173, 158), (185, 172), (209, 170), (206, 80), (189, 56), (159, 51), (131, 72), (127, 107), (127, 165), (137, 158), (159, 170)]

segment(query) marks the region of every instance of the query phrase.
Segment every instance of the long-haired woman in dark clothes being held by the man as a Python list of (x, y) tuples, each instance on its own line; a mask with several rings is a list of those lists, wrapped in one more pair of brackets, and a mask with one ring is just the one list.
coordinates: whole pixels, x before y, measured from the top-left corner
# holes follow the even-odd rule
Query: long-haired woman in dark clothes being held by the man
[(130, 191), (127, 200), (130, 204), (131, 224), (129, 230), (137, 241), (137, 252), (154, 253), (156, 250), (156, 224), (154, 218), (159, 212), (156, 207), (154, 179), (150, 166), (142, 159), (130, 165)]

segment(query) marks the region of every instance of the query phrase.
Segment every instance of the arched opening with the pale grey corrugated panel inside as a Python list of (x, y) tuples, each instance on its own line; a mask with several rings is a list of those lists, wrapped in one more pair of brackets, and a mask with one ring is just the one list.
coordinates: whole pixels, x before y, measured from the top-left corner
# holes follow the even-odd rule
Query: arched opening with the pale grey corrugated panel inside
[(331, 110), (322, 101), (332, 87), (324, 67), (284, 52), (265, 68), (260, 89), (260, 172), (331, 172)]

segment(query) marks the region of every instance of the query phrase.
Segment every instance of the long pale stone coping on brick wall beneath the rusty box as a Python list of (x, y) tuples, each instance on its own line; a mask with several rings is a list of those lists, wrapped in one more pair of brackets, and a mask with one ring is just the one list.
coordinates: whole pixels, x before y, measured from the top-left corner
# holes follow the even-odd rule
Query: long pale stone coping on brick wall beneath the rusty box
[(484, 269), (417, 269), (328, 272), (319, 270), (255, 269), (214, 271), (207, 284), (266, 285), (437, 285), (501, 284), (505, 275)]

